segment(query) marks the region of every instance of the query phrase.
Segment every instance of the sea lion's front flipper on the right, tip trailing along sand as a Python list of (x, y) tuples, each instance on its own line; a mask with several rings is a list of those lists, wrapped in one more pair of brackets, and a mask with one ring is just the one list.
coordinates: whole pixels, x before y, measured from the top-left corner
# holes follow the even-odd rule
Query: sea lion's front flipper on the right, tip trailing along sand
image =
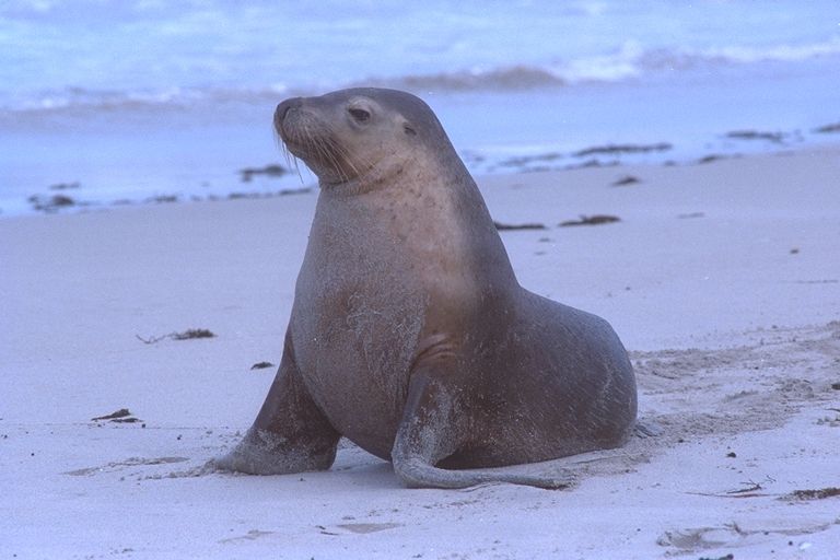
[(537, 488), (568, 488), (574, 477), (565, 471), (553, 475), (525, 474), (508, 468), (450, 470), (434, 465), (455, 453), (467, 439), (463, 416), (456, 410), (457, 390), (447, 386), (448, 375), (411, 375), (408, 399), (390, 457), (394, 470), (409, 488), (467, 488), (508, 482)]

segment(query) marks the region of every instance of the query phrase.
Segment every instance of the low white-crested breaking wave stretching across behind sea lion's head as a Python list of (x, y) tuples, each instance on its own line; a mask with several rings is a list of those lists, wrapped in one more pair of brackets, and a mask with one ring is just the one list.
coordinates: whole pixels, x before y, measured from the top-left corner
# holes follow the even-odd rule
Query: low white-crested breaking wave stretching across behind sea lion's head
[(547, 63), (520, 63), (498, 68), (474, 68), (438, 73), (394, 77), (366, 77), (349, 83), (268, 84), (259, 88), (168, 88), (165, 90), (102, 91), (67, 88), (25, 96), (0, 94), (0, 117), (5, 114), (55, 113), (72, 109), (118, 110), (120, 108), (189, 108), (205, 104), (273, 103), (281, 96), (310, 95), (325, 89), (359, 85), (398, 88), (415, 92), (512, 92), (546, 88), (570, 88), (591, 83), (620, 83), (626, 80), (673, 75), (692, 70), (755, 68), (767, 63), (796, 63), (809, 59), (837, 57), (840, 37), (807, 45), (770, 47), (726, 46), (703, 50), (685, 48), (642, 48), (627, 43), (615, 52)]

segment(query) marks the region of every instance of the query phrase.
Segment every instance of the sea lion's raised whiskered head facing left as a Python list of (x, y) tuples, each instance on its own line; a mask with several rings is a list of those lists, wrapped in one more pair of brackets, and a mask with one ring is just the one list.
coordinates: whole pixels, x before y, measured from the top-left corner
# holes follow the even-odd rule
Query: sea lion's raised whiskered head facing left
[(433, 147), (432, 159), (454, 155), (432, 109), (397, 90), (357, 88), (285, 100), (275, 112), (275, 129), (328, 187), (372, 184), (409, 163), (423, 164), (429, 150), (421, 147)]

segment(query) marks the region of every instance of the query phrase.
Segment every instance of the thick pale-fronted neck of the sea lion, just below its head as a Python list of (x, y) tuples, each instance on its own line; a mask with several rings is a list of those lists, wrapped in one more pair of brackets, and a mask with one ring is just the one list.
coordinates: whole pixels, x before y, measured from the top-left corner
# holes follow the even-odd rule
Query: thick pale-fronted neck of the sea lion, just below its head
[(460, 160), (412, 163), (322, 188), (320, 218), (345, 232), (358, 231), (358, 238), (372, 242), (373, 235), (383, 246), (402, 247), (425, 262), (431, 276), (493, 278), (500, 288), (516, 283), (483, 198)]

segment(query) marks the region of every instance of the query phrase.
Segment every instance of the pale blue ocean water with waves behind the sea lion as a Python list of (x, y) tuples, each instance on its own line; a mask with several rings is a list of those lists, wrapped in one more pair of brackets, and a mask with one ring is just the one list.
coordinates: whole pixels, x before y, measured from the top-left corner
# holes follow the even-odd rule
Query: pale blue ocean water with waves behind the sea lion
[(273, 107), (366, 84), (478, 174), (838, 142), (840, 2), (0, 1), (0, 215), (300, 189)]

